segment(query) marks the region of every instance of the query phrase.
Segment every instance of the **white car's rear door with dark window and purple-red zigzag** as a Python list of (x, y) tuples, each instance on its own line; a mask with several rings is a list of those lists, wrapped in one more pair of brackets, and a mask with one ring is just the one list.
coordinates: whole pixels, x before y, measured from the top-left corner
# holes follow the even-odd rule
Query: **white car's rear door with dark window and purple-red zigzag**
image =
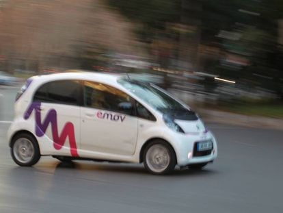
[(42, 151), (78, 157), (82, 85), (59, 80), (42, 85), (33, 97), (29, 113), (35, 111), (36, 136), (42, 137)]

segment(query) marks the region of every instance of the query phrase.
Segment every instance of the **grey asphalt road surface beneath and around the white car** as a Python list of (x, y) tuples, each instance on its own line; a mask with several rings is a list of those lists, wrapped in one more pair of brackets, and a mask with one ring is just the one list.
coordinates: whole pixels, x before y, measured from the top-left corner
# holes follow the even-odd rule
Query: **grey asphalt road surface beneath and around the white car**
[(0, 123), (0, 212), (283, 212), (283, 132), (208, 127), (219, 140), (213, 164), (156, 176), (139, 164), (51, 157), (19, 167), (5, 140), (8, 124)]

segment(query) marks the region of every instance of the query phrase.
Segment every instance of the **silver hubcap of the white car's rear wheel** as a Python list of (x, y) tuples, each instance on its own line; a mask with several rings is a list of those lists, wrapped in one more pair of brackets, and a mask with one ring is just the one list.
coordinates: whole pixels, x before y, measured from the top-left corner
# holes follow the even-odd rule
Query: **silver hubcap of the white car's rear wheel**
[(18, 138), (14, 143), (13, 153), (19, 162), (23, 164), (30, 162), (34, 155), (32, 142), (27, 138)]

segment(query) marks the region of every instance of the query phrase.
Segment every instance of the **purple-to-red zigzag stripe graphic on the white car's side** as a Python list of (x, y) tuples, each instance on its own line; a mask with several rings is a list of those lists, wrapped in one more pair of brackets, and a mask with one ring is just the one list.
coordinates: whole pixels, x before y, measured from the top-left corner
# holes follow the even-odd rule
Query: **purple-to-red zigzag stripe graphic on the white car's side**
[(55, 149), (59, 150), (62, 149), (64, 146), (64, 143), (66, 142), (66, 138), (69, 138), (70, 142), (70, 153), (74, 157), (78, 157), (79, 154), (77, 152), (77, 144), (75, 139), (75, 131), (74, 131), (74, 125), (70, 122), (67, 122), (62, 132), (59, 136), (58, 134), (58, 127), (57, 127), (57, 112), (54, 109), (49, 110), (49, 112), (46, 114), (46, 118), (44, 119), (43, 123), (41, 121), (41, 113), (40, 113), (40, 105), (39, 102), (34, 102), (29, 105), (29, 108), (27, 108), (27, 111), (24, 114), (25, 120), (31, 116), (31, 112), (33, 110), (35, 111), (35, 117), (36, 117), (36, 136), (42, 137), (44, 136), (47, 127), (49, 126), (49, 123), (51, 124), (51, 130), (52, 130), (52, 136), (53, 136), (53, 146)]

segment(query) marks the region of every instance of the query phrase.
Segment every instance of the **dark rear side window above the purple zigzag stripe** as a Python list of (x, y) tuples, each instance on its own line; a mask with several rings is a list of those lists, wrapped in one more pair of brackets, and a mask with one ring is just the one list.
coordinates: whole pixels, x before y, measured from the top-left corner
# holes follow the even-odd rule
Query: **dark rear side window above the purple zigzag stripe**
[(35, 93), (33, 101), (79, 105), (81, 84), (79, 81), (64, 80), (49, 82)]

